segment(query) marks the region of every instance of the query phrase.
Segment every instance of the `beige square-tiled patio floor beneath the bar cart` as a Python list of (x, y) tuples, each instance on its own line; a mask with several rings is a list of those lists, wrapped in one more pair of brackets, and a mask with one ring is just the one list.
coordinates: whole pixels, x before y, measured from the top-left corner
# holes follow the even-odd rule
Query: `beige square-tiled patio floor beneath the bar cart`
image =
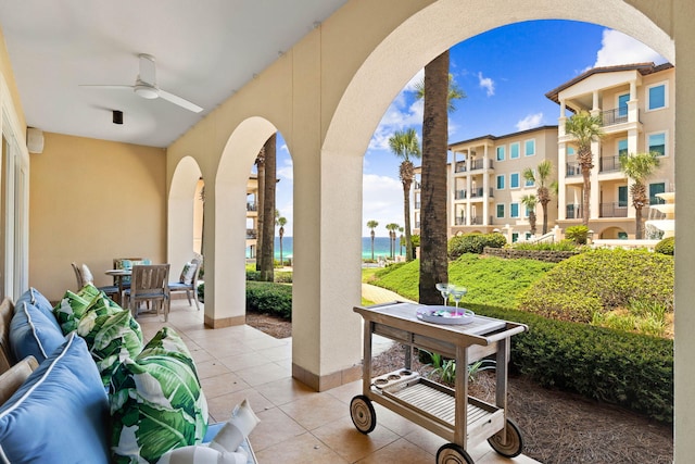
[[(146, 339), (164, 326), (162, 321), (140, 315)], [(376, 429), (358, 432), (349, 410), (361, 381), (316, 392), (294, 380), (291, 338), (278, 340), (245, 325), (205, 328), (203, 311), (185, 299), (172, 302), (167, 325), (195, 360), (211, 422), (226, 421), (237, 403), (249, 400), (261, 418), (250, 436), (260, 463), (433, 463), (446, 442), (379, 404), (374, 404)], [(468, 451), (478, 464), (536, 462), (502, 457), (486, 442)]]

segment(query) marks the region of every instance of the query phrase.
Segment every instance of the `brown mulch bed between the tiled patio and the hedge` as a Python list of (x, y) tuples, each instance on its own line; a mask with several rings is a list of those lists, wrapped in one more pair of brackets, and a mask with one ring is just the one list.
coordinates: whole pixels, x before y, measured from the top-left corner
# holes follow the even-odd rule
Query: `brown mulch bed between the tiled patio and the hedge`
[[(247, 314), (247, 324), (276, 338), (290, 337), (291, 323)], [(413, 368), (426, 374), (417, 363)], [(403, 367), (403, 349), (393, 347), (372, 360), (375, 375)], [(494, 373), (477, 375), (470, 394), (494, 402)], [(523, 434), (523, 454), (545, 464), (673, 462), (673, 430), (621, 407), (578, 394), (548, 390), (522, 376), (510, 376), (507, 410)]]

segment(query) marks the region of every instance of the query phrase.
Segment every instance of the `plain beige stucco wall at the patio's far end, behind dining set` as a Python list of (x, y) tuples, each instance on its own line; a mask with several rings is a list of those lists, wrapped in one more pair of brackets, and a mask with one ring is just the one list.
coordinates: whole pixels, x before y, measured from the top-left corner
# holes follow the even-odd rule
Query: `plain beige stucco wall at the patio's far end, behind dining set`
[(103, 272), (114, 258), (165, 262), (165, 151), (43, 135), (30, 155), (29, 285), (56, 300), (77, 286), (73, 261), (97, 285), (112, 284)]

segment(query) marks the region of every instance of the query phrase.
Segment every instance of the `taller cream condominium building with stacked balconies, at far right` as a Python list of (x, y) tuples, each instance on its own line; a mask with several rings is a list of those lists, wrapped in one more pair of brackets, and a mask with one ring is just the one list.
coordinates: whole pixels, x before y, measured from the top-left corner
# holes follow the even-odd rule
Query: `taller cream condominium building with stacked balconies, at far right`
[[(581, 224), (583, 177), (577, 147), (565, 134), (568, 113), (586, 110), (603, 120), (604, 137), (592, 143), (589, 228), (594, 238), (634, 238), (635, 210), (619, 156), (657, 152), (659, 167), (647, 179), (649, 203), (674, 189), (674, 67), (640, 63), (589, 70), (546, 93), (560, 105), (558, 118), (558, 218), (561, 228)], [(648, 214), (648, 206), (643, 215)]]

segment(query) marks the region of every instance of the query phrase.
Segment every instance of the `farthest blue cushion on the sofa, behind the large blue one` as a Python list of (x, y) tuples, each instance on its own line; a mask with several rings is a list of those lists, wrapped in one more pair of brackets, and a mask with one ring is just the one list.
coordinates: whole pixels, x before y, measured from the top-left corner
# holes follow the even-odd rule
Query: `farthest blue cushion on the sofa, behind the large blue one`
[(40, 364), (65, 342), (63, 333), (54, 324), (55, 319), (53, 316), (51, 318), (53, 321), (26, 300), (14, 309), (10, 323), (10, 347), (15, 359), (33, 355)]

